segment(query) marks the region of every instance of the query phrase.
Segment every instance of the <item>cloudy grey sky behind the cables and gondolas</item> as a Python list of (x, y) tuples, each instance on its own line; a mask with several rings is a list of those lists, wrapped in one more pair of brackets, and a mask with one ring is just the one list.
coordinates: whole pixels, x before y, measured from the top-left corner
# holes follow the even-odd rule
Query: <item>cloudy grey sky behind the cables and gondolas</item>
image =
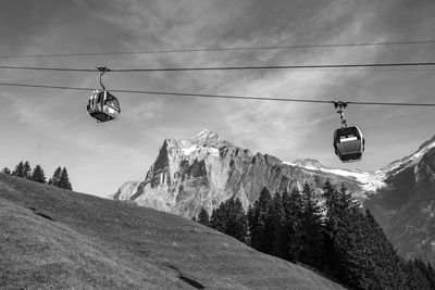
[[(0, 56), (116, 51), (304, 46), (435, 39), (435, 1), (408, 0), (2, 0)], [(435, 43), (0, 58), (0, 65), (156, 68), (435, 62)], [(270, 98), (435, 103), (435, 67), (108, 73), (125, 90)], [(0, 70), (0, 83), (99, 88), (99, 74)], [(331, 104), (114, 93), (117, 119), (96, 123), (86, 91), (0, 86), (0, 167), (66, 167), (73, 189), (108, 196), (142, 180), (165, 138), (208, 128), (221, 139), (283, 161), (376, 171), (435, 135), (434, 108), (349, 105), (366, 148), (358, 163), (334, 154), (340, 126)]]

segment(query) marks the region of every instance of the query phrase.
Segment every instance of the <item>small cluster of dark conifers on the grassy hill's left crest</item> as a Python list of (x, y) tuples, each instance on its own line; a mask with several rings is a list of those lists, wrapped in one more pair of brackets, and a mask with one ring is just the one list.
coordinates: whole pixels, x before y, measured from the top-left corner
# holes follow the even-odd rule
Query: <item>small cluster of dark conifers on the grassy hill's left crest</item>
[(26, 161), (26, 162), (21, 161), (12, 172), (8, 167), (4, 167), (1, 171), (1, 173), (26, 178), (26, 179), (29, 179), (29, 180), (33, 180), (33, 181), (39, 182), (39, 184), (48, 184), (51, 186), (57, 186), (57, 187), (60, 187), (63, 189), (69, 189), (69, 190), (73, 189), (73, 187), (70, 182), (70, 177), (67, 175), (66, 168), (65, 167), (61, 168), (61, 166), (55, 168), (52, 177), (48, 180), (48, 182), (47, 182), (46, 174), (45, 174), (42, 167), (38, 164), (35, 166), (34, 169), (32, 169), (28, 161)]

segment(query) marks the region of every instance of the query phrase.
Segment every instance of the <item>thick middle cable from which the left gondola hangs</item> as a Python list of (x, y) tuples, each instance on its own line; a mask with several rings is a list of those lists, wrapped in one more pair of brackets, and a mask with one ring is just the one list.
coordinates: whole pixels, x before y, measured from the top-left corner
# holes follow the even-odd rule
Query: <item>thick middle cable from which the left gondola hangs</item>
[[(210, 67), (160, 67), (160, 68), (108, 68), (108, 73), (139, 72), (192, 72), (192, 71), (248, 71), (248, 70), (306, 70), (306, 68), (346, 68), (346, 67), (396, 67), (433, 66), (435, 62), (411, 63), (363, 63), (363, 64), (308, 64), (308, 65), (264, 65), (264, 66), (210, 66)], [(53, 72), (99, 72), (96, 68), (38, 67), (0, 65), (1, 70), (53, 71)]]

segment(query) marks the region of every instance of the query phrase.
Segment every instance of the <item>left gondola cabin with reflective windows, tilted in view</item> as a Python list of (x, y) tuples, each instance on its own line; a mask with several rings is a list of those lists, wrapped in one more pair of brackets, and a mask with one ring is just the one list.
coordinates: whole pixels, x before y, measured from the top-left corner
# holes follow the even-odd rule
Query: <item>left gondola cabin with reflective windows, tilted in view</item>
[(95, 90), (89, 98), (88, 112), (98, 122), (107, 122), (121, 113), (120, 102), (108, 90)]

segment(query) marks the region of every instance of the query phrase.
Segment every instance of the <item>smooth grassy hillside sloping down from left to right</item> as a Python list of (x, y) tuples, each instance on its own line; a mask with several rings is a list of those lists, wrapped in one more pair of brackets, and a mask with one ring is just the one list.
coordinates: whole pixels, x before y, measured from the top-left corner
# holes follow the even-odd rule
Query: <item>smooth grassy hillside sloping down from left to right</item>
[(1, 289), (341, 289), (189, 219), (0, 174)]

